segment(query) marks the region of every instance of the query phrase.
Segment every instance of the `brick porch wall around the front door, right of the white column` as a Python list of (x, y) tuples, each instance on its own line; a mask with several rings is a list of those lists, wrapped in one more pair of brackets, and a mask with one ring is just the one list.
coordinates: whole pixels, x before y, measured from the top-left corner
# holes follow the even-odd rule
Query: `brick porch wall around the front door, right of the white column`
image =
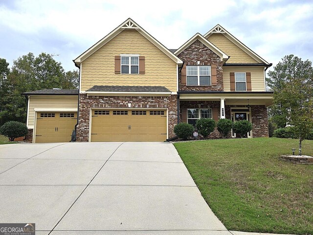
[[(230, 119), (231, 107), (243, 106), (225, 105), (226, 118), (228, 119)], [(264, 105), (251, 105), (251, 120), (252, 137), (268, 137), (268, 110)]]

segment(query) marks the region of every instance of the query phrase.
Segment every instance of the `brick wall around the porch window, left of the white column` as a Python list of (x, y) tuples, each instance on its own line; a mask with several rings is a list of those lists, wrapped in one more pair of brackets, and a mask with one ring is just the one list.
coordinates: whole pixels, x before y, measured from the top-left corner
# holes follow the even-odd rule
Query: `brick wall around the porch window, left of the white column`
[[(179, 101), (179, 121), (182, 120), (181, 111), (182, 109), (199, 109), (198, 104), (201, 104), (201, 108), (217, 108), (218, 117), (220, 118), (220, 101)], [(214, 111), (213, 111), (214, 112)], [(217, 128), (210, 133), (208, 139), (221, 138)]]

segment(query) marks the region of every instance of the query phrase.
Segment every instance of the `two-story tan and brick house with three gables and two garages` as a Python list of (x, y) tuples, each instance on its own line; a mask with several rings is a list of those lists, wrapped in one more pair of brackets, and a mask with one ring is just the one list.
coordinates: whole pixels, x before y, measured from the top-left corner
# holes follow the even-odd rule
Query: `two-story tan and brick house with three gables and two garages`
[(166, 141), (199, 118), (247, 119), (246, 137), (268, 137), (271, 64), (221, 25), (168, 49), (128, 19), (74, 63), (78, 90), (24, 94), (28, 141), (70, 141), (73, 129), (76, 141)]

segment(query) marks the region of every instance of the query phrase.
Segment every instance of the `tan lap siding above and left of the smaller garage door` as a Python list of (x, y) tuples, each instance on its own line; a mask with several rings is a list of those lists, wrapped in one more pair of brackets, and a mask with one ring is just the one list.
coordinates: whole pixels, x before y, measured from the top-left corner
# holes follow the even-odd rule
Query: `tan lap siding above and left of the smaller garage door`
[(28, 113), (28, 127), (34, 126), (34, 109), (50, 109), (50, 108), (71, 108), (77, 109), (78, 96), (30, 96), (29, 113)]

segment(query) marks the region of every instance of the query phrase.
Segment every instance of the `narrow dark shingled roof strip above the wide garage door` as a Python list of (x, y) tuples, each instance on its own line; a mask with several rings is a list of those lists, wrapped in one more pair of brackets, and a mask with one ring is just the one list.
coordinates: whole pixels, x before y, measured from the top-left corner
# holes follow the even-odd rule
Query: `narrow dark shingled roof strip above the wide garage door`
[(87, 92), (171, 92), (161, 86), (93, 86)]

